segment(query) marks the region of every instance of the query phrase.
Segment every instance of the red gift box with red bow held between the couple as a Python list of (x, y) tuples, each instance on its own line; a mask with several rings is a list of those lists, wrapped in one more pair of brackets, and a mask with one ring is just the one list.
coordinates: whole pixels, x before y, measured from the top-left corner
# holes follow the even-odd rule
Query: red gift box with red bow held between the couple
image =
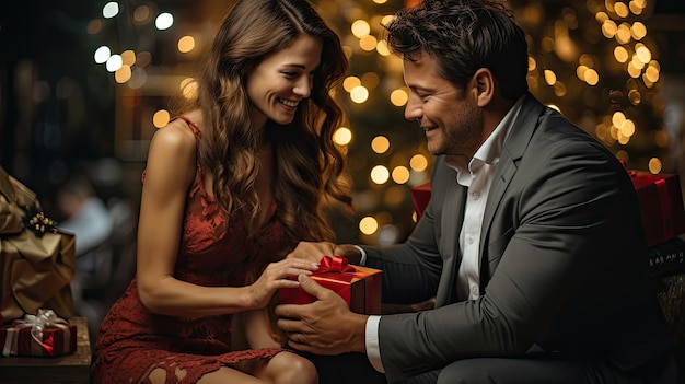
[[(352, 312), (378, 315), (381, 314), (381, 276), (380, 269), (350, 266), (340, 256), (324, 256), (310, 277), (345, 299)], [(278, 291), (278, 301), (285, 304), (307, 304), (314, 300), (301, 287)]]

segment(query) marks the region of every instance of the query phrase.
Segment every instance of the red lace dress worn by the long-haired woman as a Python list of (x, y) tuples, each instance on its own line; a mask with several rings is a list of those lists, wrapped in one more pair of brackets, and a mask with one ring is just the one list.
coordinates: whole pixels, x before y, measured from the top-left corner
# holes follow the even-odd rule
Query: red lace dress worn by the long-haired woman
[[(184, 118), (199, 146), (200, 131)], [(248, 271), (281, 254), (282, 226), (276, 203), (259, 233), (248, 237), (223, 211), (202, 184), (202, 168), (186, 200), (183, 237), (175, 277), (201, 286), (239, 287)], [(144, 173), (143, 173), (144, 181)], [(231, 350), (231, 315), (187, 318), (151, 314), (138, 298), (136, 278), (103, 319), (95, 342), (92, 382), (150, 383), (154, 369), (166, 371), (166, 383), (195, 383), (202, 374), (247, 359), (269, 359), (281, 349)], [(176, 370), (185, 370), (178, 379)]]

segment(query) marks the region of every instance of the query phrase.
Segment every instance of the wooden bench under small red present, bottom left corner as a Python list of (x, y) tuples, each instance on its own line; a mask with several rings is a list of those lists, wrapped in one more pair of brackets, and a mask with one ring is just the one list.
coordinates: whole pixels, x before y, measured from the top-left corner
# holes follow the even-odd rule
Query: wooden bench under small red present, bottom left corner
[(85, 317), (69, 319), (77, 325), (76, 353), (56, 358), (0, 356), (2, 384), (88, 384), (91, 374), (91, 341)]

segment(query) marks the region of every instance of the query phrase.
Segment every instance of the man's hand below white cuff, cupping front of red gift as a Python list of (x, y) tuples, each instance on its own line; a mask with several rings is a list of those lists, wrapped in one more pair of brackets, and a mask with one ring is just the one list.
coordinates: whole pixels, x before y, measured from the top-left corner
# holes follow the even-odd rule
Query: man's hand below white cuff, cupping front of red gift
[(351, 312), (342, 298), (310, 277), (300, 275), (298, 281), (317, 300), (276, 306), (278, 327), (288, 334), (288, 344), (316, 354), (365, 352), (368, 316)]

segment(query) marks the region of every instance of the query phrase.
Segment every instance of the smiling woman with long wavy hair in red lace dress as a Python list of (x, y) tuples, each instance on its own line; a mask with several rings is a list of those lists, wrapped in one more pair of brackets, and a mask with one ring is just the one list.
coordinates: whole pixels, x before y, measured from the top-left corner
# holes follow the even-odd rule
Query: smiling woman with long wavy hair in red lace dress
[[(264, 309), (317, 268), (285, 256), (333, 237), (326, 197), (351, 202), (332, 139), (344, 116), (330, 91), (347, 66), (306, 1), (237, 1), (197, 100), (151, 141), (137, 277), (102, 322), (93, 382), (317, 382), (269, 335)], [(232, 338), (232, 323), (251, 328)]]

